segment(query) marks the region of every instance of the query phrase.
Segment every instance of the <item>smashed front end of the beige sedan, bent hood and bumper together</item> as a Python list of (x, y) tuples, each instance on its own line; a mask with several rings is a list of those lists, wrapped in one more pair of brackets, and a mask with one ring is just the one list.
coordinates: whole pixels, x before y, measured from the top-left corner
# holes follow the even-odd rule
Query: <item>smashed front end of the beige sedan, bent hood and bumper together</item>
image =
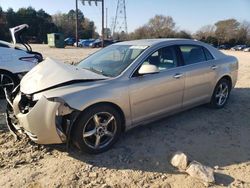
[[(49, 70), (45, 68), (48, 66)], [(65, 74), (59, 77), (54, 71), (56, 69)], [(46, 92), (103, 78), (86, 70), (46, 59), (25, 75), (15, 90), (5, 91), (8, 102), (7, 125), (11, 133), (16, 138), (18, 132), (25, 133), (38, 144), (66, 143), (70, 140), (71, 127), (80, 111), (70, 107), (59, 95), (50, 96)]]

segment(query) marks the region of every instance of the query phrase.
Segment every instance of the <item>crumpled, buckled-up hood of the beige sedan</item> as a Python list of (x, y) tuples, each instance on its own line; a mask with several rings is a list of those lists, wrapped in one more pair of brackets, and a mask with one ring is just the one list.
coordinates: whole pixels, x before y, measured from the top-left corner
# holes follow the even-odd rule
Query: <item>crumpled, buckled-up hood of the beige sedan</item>
[(101, 79), (107, 77), (46, 58), (23, 77), (20, 89), (25, 94), (34, 94), (75, 82)]

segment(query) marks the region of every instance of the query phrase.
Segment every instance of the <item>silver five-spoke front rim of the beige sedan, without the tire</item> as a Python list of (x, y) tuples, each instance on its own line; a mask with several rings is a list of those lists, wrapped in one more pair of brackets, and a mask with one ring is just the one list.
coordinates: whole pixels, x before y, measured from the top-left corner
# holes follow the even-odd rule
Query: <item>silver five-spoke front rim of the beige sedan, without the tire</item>
[(99, 112), (93, 115), (83, 129), (83, 141), (92, 149), (102, 149), (112, 142), (117, 132), (114, 115)]

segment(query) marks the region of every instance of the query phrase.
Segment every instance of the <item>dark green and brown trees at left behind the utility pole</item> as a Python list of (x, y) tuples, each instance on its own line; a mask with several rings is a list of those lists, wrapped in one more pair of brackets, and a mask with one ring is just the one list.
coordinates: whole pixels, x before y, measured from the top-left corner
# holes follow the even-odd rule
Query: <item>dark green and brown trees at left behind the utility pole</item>
[[(81, 10), (78, 10), (79, 37), (95, 38), (98, 36), (93, 21), (84, 17)], [(0, 40), (11, 41), (9, 28), (28, 24), (27, 39), (37, 43), (46, 43), (48, 33), (63, 33), (65, 37), (75, 36), (75, 10), (68, 13), (57, 13), (49, 15), (43, 9), (36, 11), (32, 7), (20, 8), (16, 12), (9, 8), (3, 11), (0, 7)]]

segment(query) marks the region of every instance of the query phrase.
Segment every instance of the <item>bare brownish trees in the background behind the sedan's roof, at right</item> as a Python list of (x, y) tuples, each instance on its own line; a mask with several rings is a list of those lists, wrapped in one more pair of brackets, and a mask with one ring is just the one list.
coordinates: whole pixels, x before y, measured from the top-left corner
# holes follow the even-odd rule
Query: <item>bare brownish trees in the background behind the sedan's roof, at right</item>
[(215, 46), (221, 44), (250, 45), (250, 22), (239, 22), (236, 19), (226, 19), (214, 25), (206, 25), (196, 33), (178, 30), (171, 16), (156, 15), (148, 23), (125, 36), (129, 39), (145, 38), (194, 38)]

